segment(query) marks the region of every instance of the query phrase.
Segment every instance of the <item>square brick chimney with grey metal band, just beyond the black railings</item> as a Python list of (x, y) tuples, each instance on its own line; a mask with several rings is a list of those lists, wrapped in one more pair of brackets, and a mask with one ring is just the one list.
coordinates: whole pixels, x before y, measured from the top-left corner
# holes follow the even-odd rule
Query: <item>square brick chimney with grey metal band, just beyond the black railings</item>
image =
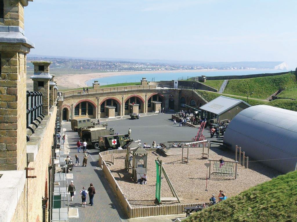
[(34, 65), (33, 90), (42, 93), (42, 114), (48, 115), (50, 105), (50, 64), (48, 61), (31, 61)]

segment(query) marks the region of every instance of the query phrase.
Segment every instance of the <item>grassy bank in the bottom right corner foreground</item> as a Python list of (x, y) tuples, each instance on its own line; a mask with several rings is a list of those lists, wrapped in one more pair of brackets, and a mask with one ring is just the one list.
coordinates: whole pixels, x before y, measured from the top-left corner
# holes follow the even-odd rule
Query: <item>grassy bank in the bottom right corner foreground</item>
[(295, 222), (297, 171), (273, 178), (193, 214), (184, 222)]

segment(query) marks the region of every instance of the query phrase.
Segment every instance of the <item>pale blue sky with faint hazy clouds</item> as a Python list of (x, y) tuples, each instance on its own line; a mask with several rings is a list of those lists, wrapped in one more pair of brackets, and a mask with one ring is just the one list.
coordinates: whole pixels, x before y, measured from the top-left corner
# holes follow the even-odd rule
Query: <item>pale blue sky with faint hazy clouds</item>
[(295, 0), (34, 0), (31, 54), (297, 66)]

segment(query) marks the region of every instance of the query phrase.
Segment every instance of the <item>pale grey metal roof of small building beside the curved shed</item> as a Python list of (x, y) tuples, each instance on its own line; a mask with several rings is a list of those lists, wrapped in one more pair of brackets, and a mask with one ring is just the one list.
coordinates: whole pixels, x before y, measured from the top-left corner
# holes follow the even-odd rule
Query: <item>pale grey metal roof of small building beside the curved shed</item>
[(248, 105), (249, 107), (251, 106), (250, 104), (244, 102), (241, 99), (233, 99), (226, 96), (219, 96), (211, 100), (210, 102), (206, 103), (205, 105), (201, 106), (200, 109), (220, 115), (226, 112), (227, 110), (230, 110), (231, 108), (235, 107), (241, 102)]

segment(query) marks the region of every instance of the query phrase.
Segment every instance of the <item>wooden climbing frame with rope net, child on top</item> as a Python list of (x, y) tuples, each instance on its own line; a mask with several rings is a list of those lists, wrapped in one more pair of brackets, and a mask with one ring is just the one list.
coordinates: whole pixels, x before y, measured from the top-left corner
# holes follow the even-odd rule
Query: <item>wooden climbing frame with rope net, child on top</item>
[[(208, 178), (210, 175), (227, 176), (237, 178), (237, 164), (238, 161), (224, 161), (224, 165), (220, 166), (220, 160), (208, 159), (213, 167), (209, 167)], [(212, 170), (211, 170), (212, 169)]]

